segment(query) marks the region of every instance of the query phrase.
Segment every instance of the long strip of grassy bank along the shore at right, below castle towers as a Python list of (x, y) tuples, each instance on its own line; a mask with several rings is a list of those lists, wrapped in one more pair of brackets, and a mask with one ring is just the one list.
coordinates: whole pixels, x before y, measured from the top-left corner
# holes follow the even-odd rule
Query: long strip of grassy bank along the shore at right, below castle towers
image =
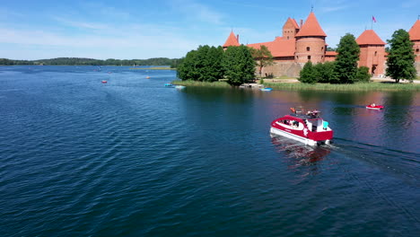
[(266, 87), (276, 90), (292, 91), (341, 91), (341, 92), (420, 92), (417, 83), (354, 83), (354, 84), (328, 84), (328, 83), (264, 83)]

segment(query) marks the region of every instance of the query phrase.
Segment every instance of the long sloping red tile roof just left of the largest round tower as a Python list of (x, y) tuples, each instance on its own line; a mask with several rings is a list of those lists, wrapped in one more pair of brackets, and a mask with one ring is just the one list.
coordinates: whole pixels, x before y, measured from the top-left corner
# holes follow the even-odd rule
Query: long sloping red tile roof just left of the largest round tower
[(285, 40), (283, 37), (276, 37), (276, 40), (265, 43), (249, 44), (248, 47), (257, 48), (265, 45), (273, 57), (294, 57), (295, 40)]

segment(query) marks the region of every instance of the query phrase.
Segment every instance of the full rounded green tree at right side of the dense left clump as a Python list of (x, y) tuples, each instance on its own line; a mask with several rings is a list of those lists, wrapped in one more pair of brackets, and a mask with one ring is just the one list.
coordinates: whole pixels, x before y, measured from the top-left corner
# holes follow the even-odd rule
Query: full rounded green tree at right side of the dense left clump
[(247, 46), (231, 46), (223, 57), (223, 68), (227, 82), (237, 86), (254, 79), (255, 61)]

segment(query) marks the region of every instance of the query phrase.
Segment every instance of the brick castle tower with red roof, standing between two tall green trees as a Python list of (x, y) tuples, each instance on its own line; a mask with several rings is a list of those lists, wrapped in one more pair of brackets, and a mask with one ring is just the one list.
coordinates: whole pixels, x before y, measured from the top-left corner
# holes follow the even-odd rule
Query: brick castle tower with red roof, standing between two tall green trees
[(366, 30), (356, 39), (360, 47), (359, 66), (369, 67), (372, 75), (384, 75), (385, 42), (373, 30)]

